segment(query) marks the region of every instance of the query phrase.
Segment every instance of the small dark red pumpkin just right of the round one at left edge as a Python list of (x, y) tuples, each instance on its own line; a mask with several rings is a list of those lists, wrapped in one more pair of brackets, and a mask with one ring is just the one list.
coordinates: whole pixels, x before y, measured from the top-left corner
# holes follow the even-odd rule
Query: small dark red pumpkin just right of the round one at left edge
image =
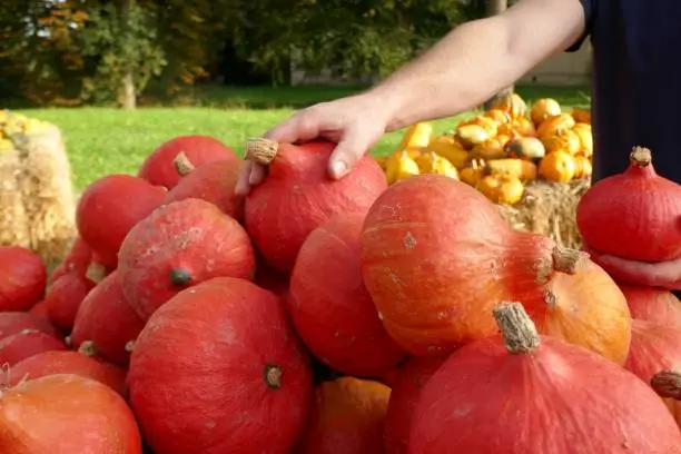
[(45, 297), (50, 320), (66, 330), (71, 330), (80, 304), (95, 283), (77, 272), (70, 272), (57, 279)]

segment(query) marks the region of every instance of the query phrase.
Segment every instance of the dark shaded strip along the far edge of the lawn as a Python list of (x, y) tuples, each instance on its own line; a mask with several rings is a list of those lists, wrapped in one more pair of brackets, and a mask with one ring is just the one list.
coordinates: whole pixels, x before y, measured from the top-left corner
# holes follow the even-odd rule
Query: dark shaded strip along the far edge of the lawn
[[(145, 96), (140, 107), (204, 107), (215, 109), (302, 109), (317, 102), (330, 101), (362, 92), (361, 86), (298, 86), (298, 87), (227, 87), (199, 86), (172, 98)], [(519, 95), (532, 102), (540, 98), (554, 98), (565, 106), (588, 106), (590, 89), (586, 86), (519, 86)], [(10, 109), (41, 108), (27, 100), (1, 101)]]

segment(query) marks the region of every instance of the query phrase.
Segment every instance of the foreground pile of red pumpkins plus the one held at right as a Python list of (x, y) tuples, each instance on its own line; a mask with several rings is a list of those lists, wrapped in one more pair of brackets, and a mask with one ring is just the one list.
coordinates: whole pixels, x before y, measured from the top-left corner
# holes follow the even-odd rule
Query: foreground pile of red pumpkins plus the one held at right
[[(237, 197), (244, 161), (178, 137), (85, 190), (49, 278), (0, 248), (0, 452), (681, 453), (671, 293), (444, 176), (388, 188), (364, 157), (332, 180), (333, 148), (249, 141), (268, 177)], [(634, 155), (582, 233), (678, 257), (680, 189)]]

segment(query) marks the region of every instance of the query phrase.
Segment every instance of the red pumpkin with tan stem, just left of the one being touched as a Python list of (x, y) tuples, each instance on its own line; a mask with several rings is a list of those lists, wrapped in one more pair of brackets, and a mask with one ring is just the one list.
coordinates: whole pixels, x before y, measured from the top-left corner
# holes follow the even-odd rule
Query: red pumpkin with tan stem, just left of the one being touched
[(234, 194), (243, 161), (219, 160), (196, 168), (185, 154), (179, 154), (175, 166), (182, 179), (168, 193), (166, 203), (200, 198), (239, 223), (244, 220), (244, 198)]

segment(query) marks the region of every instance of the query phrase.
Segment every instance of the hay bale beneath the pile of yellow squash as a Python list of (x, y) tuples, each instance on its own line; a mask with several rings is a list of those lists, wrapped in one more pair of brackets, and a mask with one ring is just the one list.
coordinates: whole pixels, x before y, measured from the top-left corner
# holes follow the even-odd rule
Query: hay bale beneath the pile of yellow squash
[(514, 228), (545, 235), (565, 247), (579, 248), (582, 238), (576, 227), (576, 206), (590, 186), (589, 179), (569, 184), (536, 180), (527, 185), (520, 204), (500, 208)]

